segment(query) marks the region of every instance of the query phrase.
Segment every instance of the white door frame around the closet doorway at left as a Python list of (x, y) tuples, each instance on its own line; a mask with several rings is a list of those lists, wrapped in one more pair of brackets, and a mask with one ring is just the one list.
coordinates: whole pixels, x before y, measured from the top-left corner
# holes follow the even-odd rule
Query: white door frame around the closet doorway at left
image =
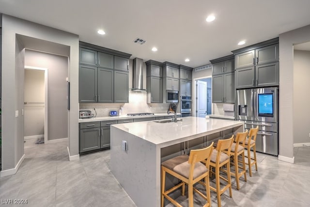
[(41, 70), (44, 71), (44, 87), (45, 87), (45, 97), (44, 97), (44, 144), (47, 144), (48, 136), (48, 69), (33, 67), (33, 66), (24, 66), (24, 69), (27, 70)]

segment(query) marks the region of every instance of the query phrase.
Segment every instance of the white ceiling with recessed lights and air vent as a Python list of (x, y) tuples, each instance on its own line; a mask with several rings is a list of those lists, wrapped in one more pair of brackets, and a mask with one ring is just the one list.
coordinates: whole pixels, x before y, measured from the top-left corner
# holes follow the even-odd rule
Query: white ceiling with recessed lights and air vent
[[(78, 34), (80, 41), (131, 58), (191, 67), (310, 25), (309, 9), (310, 0), (0, 0), (0, 13)], [(210, 14), (216, 20), (208, 23)], [(133, 43), (137, 37), (147, 42)], [(241, 40), (246, 44), (237, 45)]]

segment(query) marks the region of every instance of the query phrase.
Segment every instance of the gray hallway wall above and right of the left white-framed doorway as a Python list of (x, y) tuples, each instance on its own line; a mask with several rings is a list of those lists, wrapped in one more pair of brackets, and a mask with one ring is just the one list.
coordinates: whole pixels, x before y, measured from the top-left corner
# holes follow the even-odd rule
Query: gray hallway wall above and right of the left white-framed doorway
[(26, 50), (25, 65), (48, 69), (48, 140), (68, 137), (68, 58)]

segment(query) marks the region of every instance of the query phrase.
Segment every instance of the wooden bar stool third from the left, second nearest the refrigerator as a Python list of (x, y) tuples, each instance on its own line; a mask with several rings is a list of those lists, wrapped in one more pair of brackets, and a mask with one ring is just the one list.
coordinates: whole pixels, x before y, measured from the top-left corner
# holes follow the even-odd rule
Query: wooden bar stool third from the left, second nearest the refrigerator
[[(237, 190), (240, 189), (240, 183), (239, 178), (244, 175), (244, 180), (247, 182), (247, 175), (246, 175), (246, 163), (245, 163), (245, 140), (248, 135), (248, 130), (243, 133), (237, 133), (237, 136), (235, 138), (235, 142), (232, 144), (232, 148), (230, 151), (230, 155), (233, 157), (233, 165), (234, 165), (234, 173), (231, 172), (231, 174), (236, 177), (236, 183), (237, 183)], [(242, 166), (239, 166), (238, 162), (238, 156), (241, 155), (242, 160), (240, 163), (242, 163)], [(239, 168), (241, 168), (241, 172), (239, 172)]]

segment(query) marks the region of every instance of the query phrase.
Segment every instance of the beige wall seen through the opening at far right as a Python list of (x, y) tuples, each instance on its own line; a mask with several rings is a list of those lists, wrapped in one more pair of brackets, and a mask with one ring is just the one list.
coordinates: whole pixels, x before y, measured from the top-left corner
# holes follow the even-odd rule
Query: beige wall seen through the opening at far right
[(310, 51), (294, 50), (294, 144), (310, 142)]

